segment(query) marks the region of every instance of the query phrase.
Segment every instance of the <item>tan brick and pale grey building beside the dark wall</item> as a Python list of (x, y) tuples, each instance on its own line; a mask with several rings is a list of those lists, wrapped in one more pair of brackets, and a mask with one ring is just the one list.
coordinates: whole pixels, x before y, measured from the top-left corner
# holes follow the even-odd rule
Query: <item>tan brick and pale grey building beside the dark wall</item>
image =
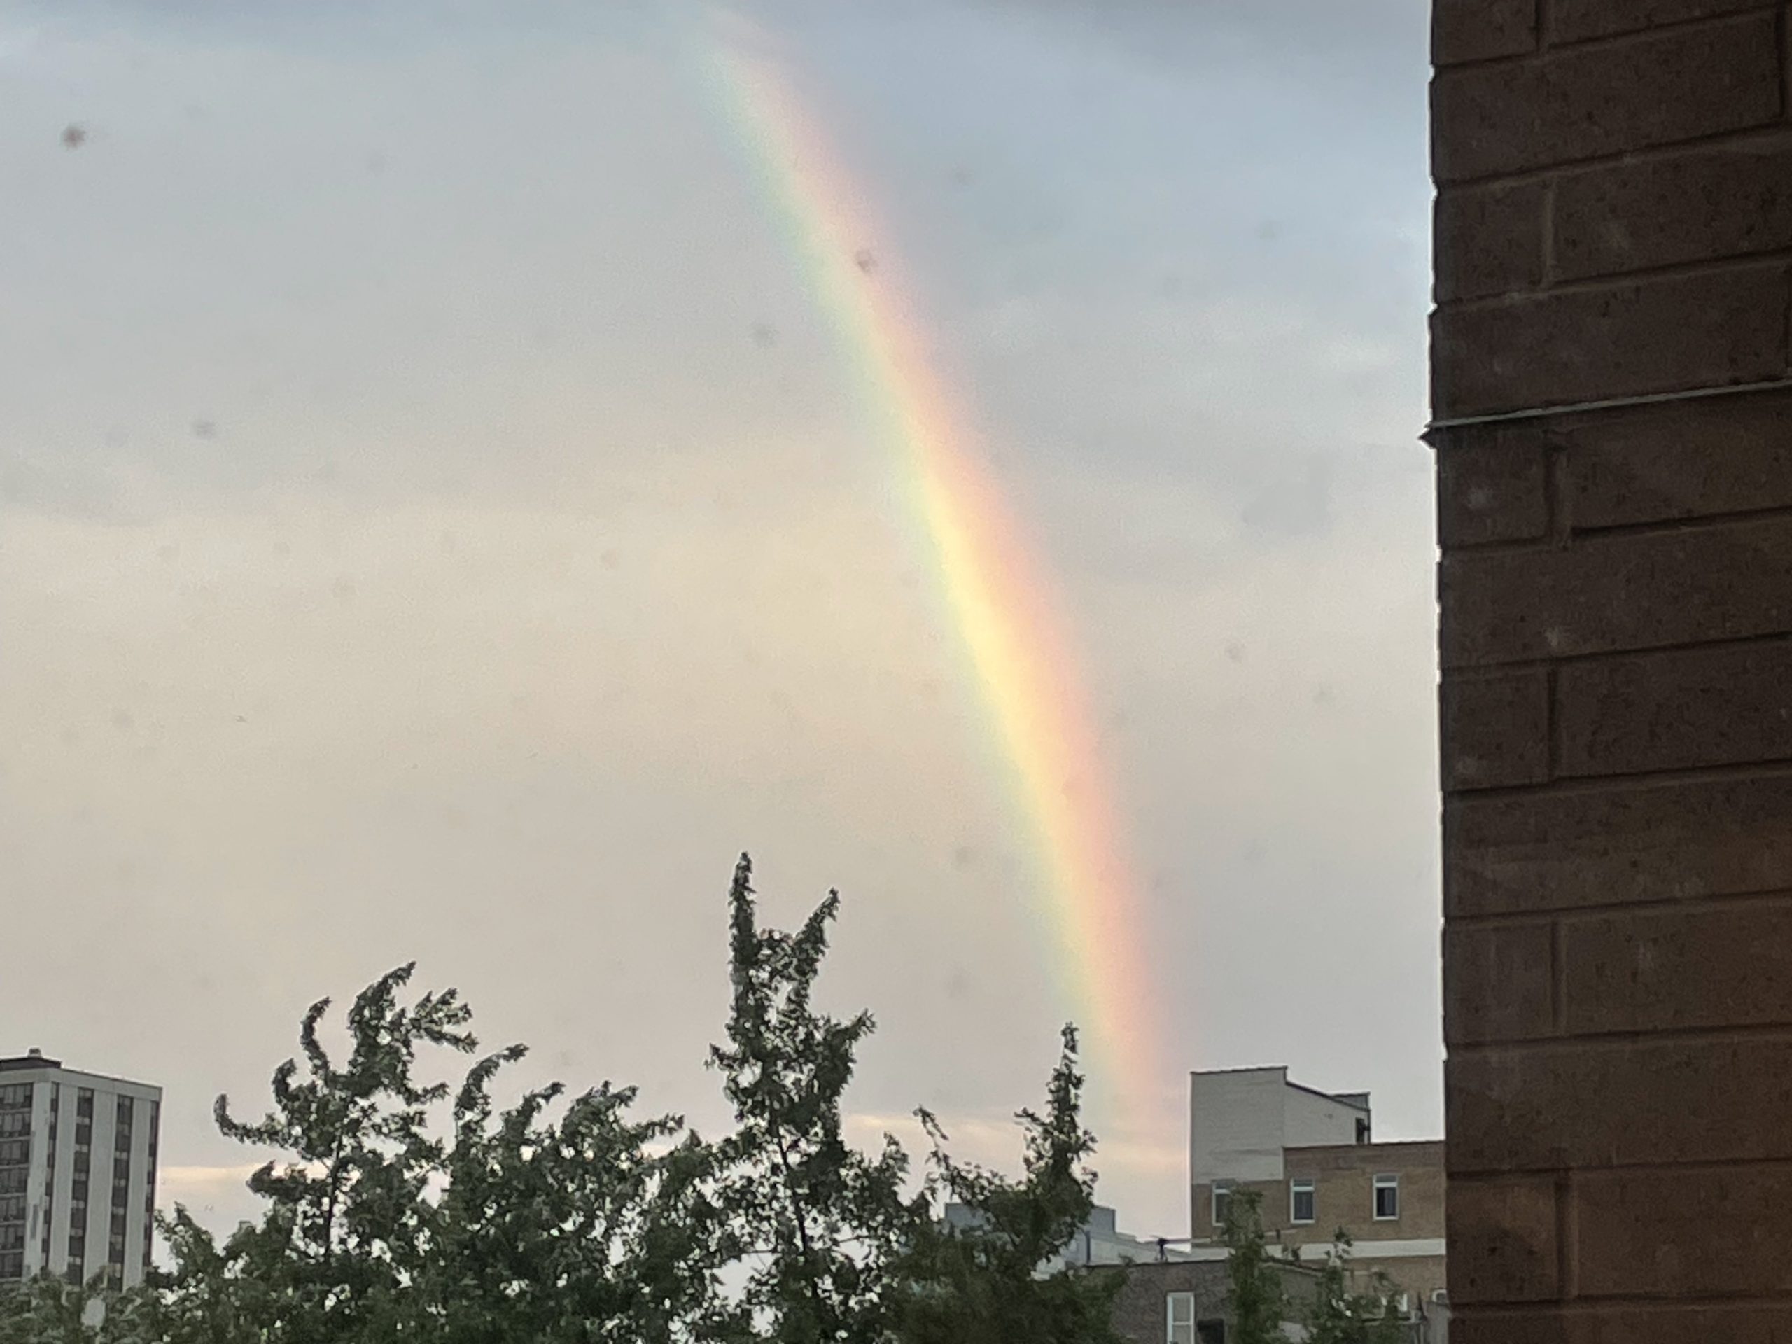
[(1353, 1269), (1385, 1272), (1407, 1314), (1439, 1326), (1419, 1333), (1443, 1337), (1444, 1145), (1376, 1143), (1369, 1093), (1303, 1088), (1287, 1068), (1197, 1072), (1188, 1181), (1195, 1258), (1224, 1258), (1226, 1201), (1251, 1190), (1274, 1242), (1314, 1263), (1344, 1229)]

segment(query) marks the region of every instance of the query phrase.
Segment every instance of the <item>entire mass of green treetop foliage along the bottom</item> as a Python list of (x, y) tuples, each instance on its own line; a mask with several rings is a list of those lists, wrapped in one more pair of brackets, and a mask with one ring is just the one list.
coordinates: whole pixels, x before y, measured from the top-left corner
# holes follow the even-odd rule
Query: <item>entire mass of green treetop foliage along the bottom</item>
[[(355, 998), (342, 1057), (319, 1000), (269, 1111), (217, 1102), (226, 1136), (280, 1154), (249, 1177), (260, 1219), (219, 1240), (176, 1206), (170, 1269), (127, 1294), (0, 1294), (0, 1344), (1113, 1344), (1116, 1276), (1036, 1274), (1093, 1197), (1075, 1034), (1045, 1113), (1020, 1113), (1020, 1181), (950, 1159), (932, 1116), (919, 1179), (889, 1136), (857, 1150), (842, 1097), (873, 1021), (814, 1005), (837, 912), (830, 894), (794, 934), (762, 928), (742, 857), (710, 1059), (735, 1129), (717, 1142), (634, 1118), (634, 1090), (609, 1082), (500, 1109), (523, 1048), (477, 1057), (455, 991), (405, 998), (412, 966)], [(475, 1055), (459, 1086), (430, 1079), (443, 1055)], [(939, 1228), (941, 1190), (982, 1226)]]

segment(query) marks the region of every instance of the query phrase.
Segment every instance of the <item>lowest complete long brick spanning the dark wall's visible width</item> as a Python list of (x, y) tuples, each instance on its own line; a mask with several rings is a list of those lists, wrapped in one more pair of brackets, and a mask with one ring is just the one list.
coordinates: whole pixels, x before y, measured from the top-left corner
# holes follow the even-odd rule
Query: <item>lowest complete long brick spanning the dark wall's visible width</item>
[(1792, 1036), (1487, 1047), (1444, 1079), (1452, 1176), (1792, 1159)]

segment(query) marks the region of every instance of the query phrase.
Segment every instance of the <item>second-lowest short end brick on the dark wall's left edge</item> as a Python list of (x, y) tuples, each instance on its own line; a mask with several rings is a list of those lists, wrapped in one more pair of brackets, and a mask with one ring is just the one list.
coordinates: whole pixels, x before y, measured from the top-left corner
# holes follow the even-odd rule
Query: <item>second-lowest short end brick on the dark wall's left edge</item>
[(1552, 1027), (1550, 925), (1444, 928), (1444, 1045), (1527, 1041)]

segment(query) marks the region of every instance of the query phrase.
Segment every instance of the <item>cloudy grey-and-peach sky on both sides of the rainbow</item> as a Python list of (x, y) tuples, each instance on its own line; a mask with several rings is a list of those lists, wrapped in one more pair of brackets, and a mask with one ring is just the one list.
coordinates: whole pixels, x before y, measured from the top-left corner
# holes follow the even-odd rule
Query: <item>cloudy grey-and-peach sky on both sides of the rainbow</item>
[[(1165, 1095), (1287, 1063), (1441, 1133), (1426, 5), (742, 9), (1084, 650)], [(5, 13), (0, 1054), (159, 1082), (222, 1226), (213, 1095), (407, 959), (518, 1082), (713, 1131), (749, 848), (774, 919), (842, 889), (855, 1131), (1011, 1158), (1068, 1012), (1029, 837), (704, 25)], [(1181, 1127), (1095, 1120), (1186, 1235)]]

